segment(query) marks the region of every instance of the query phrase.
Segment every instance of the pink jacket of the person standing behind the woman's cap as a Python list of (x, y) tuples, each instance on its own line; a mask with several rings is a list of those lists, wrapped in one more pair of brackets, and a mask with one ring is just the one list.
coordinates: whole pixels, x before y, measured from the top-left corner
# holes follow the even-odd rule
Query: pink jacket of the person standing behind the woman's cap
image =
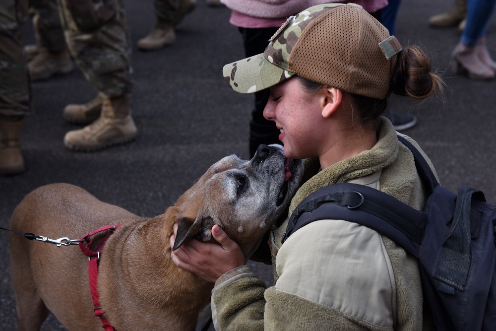
[(387, 5), (387, 0), (221, 0), (228, 8), (242, 14), (262, 18), (286, 18), (322, 3), (354, 2), (368, 12), (377, 11)]

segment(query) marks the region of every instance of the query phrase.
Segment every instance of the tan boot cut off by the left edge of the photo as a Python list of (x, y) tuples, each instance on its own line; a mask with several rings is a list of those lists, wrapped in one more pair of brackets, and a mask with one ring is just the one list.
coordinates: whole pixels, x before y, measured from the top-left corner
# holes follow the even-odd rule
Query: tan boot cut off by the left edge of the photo
[(23, 120), (0, 120), (0, 175), (11, 176), (24, 172), (21, 151), (23, 124)]

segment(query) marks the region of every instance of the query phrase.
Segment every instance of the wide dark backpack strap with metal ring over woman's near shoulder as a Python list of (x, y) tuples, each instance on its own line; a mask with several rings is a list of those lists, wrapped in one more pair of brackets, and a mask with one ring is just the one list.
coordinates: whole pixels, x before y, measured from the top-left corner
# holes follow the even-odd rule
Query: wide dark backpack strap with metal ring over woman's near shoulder
[(282, 242), (299, 228), (329, 218), (374, 229), (416, 257), (427, 222), (426, 213), (383, 192), (364, 185), (342, 183), (326, 186), (305, 198), (293, 211)]

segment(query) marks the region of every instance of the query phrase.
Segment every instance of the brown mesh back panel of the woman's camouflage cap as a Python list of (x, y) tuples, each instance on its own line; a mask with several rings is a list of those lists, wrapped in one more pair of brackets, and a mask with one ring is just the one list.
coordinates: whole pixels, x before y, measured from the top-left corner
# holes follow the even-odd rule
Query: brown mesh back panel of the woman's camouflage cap
[(379, 42), (387, 29), (365, 10), (339, 6), (313, 19), (294, 46), (289, 68), (312, 81), (384, 99), (396, 57), (388, 61)]

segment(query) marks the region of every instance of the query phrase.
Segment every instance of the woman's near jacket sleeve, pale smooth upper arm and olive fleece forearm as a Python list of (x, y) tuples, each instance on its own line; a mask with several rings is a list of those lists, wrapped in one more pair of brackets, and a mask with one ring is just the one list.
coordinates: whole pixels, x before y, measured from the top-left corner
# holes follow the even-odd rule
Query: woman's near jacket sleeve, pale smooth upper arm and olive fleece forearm
[(395, 280), (377, 232), (315, 221), (281, 246), (276, 271), (266, 290), (248, 272), (216, 285), (216, 330), (393, 330)]

